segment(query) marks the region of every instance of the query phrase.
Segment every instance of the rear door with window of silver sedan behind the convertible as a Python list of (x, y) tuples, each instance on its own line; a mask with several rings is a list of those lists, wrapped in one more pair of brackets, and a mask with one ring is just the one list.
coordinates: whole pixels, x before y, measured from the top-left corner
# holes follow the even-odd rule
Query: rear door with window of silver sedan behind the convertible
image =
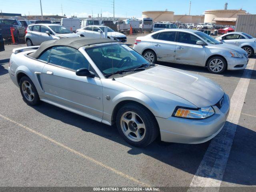
[(160, 32), (154, 34), (152, 37), (152, 46), (156, 52), (157, 60), (172, 62), (175, 57), (175, 31)]

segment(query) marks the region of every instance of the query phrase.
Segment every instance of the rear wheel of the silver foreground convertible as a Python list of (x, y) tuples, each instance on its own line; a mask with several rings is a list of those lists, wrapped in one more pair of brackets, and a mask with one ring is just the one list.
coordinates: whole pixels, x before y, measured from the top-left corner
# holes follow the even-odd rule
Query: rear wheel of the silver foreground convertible
[(28, 105), (37, 105), (40, 102), (38, 92), (33, 82), (27, 76), (20, 79), (20, 92)]

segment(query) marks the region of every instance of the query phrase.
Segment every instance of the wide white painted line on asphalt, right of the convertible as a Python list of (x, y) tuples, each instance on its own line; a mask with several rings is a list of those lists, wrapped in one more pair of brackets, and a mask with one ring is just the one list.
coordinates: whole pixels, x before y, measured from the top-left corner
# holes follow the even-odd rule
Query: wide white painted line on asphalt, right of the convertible
[(196, 171), (194, 178), (190, 184), (189, 192), (207, 191), (209, 188), (198, 187), (214, 187), (212, 191), (219, 191), (220, 184), (228, 162), (230, 149), (233, 144), (236, 133), (237, 124), (240, 118), (244, 99), (254, 69), (255, 60), (250, 59), (247, 70), (244, 70), (240, 78), (236, 90), (230, 100), (230, 113), (223, 130), (211, 140), (208, 149)]

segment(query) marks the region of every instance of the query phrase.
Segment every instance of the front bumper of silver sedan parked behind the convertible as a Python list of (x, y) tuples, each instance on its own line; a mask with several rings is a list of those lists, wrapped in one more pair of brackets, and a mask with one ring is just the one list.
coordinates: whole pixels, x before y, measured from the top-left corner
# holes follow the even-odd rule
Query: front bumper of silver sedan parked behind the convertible
[(228, 70), (241, 70), (245, 69), (248, 64), (248, 58), (234, 58), (234, 57), (225, 57), (228, 64)]

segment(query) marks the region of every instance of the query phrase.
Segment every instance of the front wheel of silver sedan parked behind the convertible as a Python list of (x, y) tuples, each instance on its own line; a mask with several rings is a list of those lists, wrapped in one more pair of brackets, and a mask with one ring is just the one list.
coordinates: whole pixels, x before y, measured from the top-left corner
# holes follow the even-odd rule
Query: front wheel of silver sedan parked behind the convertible
[(207, 63), (207, 68), (211, 73), (220, 74), (226, 70), (227, 63), (222, 57), (213, 57)]

